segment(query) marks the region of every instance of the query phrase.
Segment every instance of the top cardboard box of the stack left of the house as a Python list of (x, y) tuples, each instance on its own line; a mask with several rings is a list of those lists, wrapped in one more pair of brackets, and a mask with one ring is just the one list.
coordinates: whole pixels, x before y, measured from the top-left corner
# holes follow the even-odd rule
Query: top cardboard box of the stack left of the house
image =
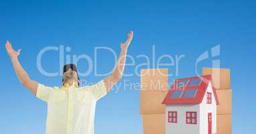
[(142, 69), (141, 90), (168, 90), (168, 68)]

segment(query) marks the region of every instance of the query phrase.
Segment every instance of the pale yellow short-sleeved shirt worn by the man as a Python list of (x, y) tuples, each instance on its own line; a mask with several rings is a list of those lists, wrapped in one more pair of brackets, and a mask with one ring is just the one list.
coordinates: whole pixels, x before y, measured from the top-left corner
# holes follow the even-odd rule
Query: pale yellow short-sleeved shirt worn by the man
[(39, 84), (36, 96), (48, 103), (46, 134), (93, 134), (96, 103), (106, 94), (103, 80), (79, 88)]

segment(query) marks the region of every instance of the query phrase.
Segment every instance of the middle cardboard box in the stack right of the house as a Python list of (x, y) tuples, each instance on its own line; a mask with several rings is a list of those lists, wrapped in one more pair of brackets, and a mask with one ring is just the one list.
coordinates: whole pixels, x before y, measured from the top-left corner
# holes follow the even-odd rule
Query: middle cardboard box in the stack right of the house
[(232, 114), (232, 91), (231, 90), (216, 90), (219, 105), (217, 105), (217, 115)]

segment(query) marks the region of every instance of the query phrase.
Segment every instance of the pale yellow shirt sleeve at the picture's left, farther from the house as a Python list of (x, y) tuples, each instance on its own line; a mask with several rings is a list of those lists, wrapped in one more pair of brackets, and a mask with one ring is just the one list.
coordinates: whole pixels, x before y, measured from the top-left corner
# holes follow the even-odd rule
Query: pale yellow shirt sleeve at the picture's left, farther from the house
[(48, 102), (50, 96), (54, 93), (55, 89), (52, 87), (44, 86), (44, 84), (38, 84), (38, 90), (36, 97)]

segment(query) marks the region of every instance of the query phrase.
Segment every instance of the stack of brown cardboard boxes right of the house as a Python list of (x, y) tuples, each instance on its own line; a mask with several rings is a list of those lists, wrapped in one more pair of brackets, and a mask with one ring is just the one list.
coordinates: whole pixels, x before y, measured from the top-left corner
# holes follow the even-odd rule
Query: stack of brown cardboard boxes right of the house
[(212, 74), (213, 86), (218, 95), (217, 134), (232, 133), (232, 91), (229, 69), (202, 68), (202, 74)]

